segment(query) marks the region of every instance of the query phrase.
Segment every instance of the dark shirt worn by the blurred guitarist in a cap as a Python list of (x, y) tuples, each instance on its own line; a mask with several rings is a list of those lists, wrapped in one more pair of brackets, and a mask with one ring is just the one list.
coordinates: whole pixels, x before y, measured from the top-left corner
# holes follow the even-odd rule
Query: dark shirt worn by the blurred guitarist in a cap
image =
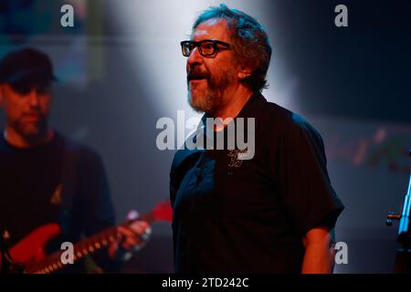
[[(68, 156), (68, 147), (75, 151), (75, 156)], [(73, 157), (75, 171), (69, 178), (74, 184), (72, 198), (64, 206), (69, 207), (69, 214), (63, 216), (63, 163)], [(37, 227), (49, 223), (66, 226), (60, 240), (72, 243), (82, 235), (95, 234), (115, 223), (100, 155), (58, 133), (46, 144), (29, 149), (14, 147), (1, 135), (0, 232), (10, 233), (13, 246)], [(107, 256), (99, 257), (99, 264), (107, 268)]]

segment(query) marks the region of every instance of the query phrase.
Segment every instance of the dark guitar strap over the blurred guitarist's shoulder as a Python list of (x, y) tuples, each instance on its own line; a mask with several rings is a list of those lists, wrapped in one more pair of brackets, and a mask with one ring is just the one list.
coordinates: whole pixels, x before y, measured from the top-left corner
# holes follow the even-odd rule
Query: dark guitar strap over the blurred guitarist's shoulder
[(73, 141), (65, 140), (62, 170), (62, 192), (59, 214), (59, 225), (63, 235), (67, 235), (73, 197), (76, 188), (77, 166), (79, 161), (79, 146)]

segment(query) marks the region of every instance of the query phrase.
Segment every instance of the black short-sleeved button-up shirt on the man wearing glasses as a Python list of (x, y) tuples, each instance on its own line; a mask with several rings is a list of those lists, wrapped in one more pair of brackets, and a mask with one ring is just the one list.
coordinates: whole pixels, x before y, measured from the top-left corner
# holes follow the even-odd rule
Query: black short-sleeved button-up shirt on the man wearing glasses
[(251, 160), (227, 148), (185, 148), (174, 156), (175, 271), (299, 273), (302, 236), (318, 225), (332, 228), (343, 209), (321, 136), (260, 94), (237, 118), (255, 118)]

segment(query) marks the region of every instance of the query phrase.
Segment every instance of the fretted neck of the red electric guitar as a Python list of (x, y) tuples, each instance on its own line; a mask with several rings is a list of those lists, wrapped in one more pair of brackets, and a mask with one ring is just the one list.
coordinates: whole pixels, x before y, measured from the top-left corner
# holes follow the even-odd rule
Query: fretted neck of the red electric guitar
[[(119, 226), (128, 226), (135, 221), (146, 221), (152, 224), (155, 221), (153, 212), (143, 214), (137, 219), (130, 220)], [(96, 235), (91, 235), (87, 238), (80, 240), (73, 245), (73, 262), (77, 262), (80, 258), (93, 254), (110, 245), (112, 242), (118, 240), (121, 234), (118, 232), (118, 226), (107, 228)], [(61, 261), (61, 255), (65, 250), (57, 251), (51, 255), (48, 255), (44, 259), (25, 266), (26, 273), (28, 274), (50, 274), (63, 268), (65, 265)]]

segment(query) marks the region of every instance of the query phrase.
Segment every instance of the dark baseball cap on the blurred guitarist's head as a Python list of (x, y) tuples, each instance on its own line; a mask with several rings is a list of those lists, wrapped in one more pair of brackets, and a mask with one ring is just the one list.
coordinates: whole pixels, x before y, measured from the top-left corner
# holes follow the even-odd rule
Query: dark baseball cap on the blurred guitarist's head
[(50, 58), (35, 48), (12, 51), (0, 61), (0, 83), (8, 83), (19, 92), (47, 87), (57, 80)]

